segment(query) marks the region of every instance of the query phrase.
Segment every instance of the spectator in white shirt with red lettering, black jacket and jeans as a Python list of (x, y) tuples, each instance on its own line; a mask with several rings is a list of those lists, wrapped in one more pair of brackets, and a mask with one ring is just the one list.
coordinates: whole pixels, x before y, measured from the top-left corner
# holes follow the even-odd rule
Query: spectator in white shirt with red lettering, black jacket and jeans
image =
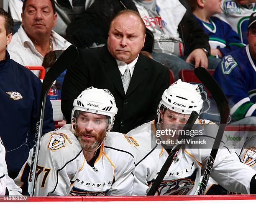
[(169, 67), (175, 79), (178, 79), (182, 69), (198, 66), (215, 69), (220, 60), (208, 57), (208, 36), (193, 17), (185, 0), (134, 2), (146, 27), (154, 34), (152, 57)]

